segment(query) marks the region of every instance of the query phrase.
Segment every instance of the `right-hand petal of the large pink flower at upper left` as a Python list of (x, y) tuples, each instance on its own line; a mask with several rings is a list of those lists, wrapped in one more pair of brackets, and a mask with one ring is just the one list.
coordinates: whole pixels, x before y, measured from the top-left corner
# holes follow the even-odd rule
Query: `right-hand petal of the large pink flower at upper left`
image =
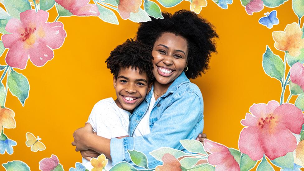
[(46, 41), (46, 45), (50, 46), (52, 49), (57, 49), (62, 46), (66, 37), (66, 32), (61, 22), (47, 22), (43, 29), (46, 33), (45, 37), (43, 37)]

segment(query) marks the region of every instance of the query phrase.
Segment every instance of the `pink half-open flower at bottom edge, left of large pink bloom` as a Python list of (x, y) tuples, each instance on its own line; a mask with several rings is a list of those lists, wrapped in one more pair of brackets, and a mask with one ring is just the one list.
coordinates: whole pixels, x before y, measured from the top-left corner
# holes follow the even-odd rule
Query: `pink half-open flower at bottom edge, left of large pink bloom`
[(215, 170), (240, 170), (240, 165), (226, 146), (205, 139), (204, 149), (211, 153), (208, 157), (208, 162), (216, 165)]

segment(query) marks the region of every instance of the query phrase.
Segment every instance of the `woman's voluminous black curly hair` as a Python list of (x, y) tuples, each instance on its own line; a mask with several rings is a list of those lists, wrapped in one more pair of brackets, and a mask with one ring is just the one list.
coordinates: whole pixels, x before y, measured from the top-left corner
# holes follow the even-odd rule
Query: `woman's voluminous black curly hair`
[(173, 15), (162, 13), (164, 19), (141, 22), (136, 40), (153, 47), (165, 32), (182, 36), (188, 41), (188, 78), (197, 78), (207, 70), (212, 52), (216, 52), (214, 38), (218, 37), (213, 26), (194, 12), (180, 10)]

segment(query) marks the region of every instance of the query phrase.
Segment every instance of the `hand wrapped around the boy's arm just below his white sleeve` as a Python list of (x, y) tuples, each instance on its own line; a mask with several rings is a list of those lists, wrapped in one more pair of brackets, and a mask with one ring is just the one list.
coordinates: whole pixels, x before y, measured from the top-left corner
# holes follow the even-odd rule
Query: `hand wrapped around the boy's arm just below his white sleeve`
[(90, 135), (93, 135), (93, 128), (91, 124), (86, 123), (84, 127), (78, 128), (73, 133), (74, 141), (73, 146), (76, 146), (76, 151), (88, 150), (88, 142), (90, 140)]

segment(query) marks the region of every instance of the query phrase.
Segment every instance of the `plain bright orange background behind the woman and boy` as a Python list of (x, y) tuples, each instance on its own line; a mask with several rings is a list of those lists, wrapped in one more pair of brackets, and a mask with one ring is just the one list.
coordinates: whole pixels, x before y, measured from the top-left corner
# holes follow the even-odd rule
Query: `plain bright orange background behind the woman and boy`
[[(160, 7), (163, 12), (172, 13), (189, 9), (190, 2), (183, 1), (172, 8)], [(192, 82), (198, 85), (204, 98), (204, 133), (227, 147), (238, 149), (243, 128), (240, 121), (253, 103), (280, 100), (281, 84), (264, 73), (262, 55), (269, 45), (283, 58), (284, 52), (273, 47), (272, 32), (283, 31), (287, 24), (298, 22), (298, 18), (292, 11), (291, 0), (275, 9), (280, 23), (272, 29), (258, 23), (272, 8), (265, 7), (250, 16), (238, 0), (227, 10), (208, 0), (207, 7), (200, 13), (216, 27), (220, 38), (210, 69)], [(55, 7), (49, 12), (52, 22), (57, 17)], [(15, 112), (17, 126), (5, 129), (4, 133), (18, 144), (12, 155), (0, 155), (0, 164), (21, 160), (31, 170), (39, 170), (38, 162), (51, 154), (58, 156), (65, 170), (81, 162), (80, 153), (71, 145), (72, 134), (84, 125), (97, 101), (115, 98), (112, 75), (104, 61), (116, 45), (134, 37), (137, 31), (137, 23), (118, 18), (120, 24), (113, 25), (98, 17), (60, 17), (58, 21), (64, 23), (67, 37), (63, 46), (54, 50), (54, 58), (40, 68), (29, 61), (26, 69), (15, 69), (28, 78), (30, 94), (24, 107), (17, 97), (7, 95), (5, 106)], [(2, 55), (2, 65), (4, 58)], [(287, 88), (285, 100), (288, 95)], [(290, 100), (294, 101), (295, 97)], [(26, 132), (39, 135), (46, 150), (32, 152), (26, 147)], [(4, 168), (1, 166), (0, 170)]]

